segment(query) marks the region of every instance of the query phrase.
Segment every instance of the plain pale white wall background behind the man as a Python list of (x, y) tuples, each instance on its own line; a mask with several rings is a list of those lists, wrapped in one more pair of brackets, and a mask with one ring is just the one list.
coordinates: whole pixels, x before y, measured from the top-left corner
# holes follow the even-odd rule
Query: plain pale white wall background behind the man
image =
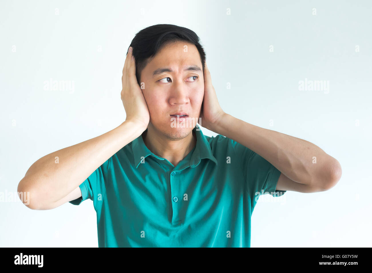
[[(329, 191), (259, 201), (251, 247), (370, 247), (372, 4), (282, 2), (1, 1), (0, 192), (16, 192), (39, 158), (125, 120), (126, 50), (141, 29), (168, 23), (201, 38), (225, 112), (341, 163)], [(74, 91), (44, 90), (50, 78)], [(305, 78), (329, 81), (329, 92), (299, 91)], [(4, 200), (0, 215), (0, 247), (98, 246), (90, 200), (46, 211)]]

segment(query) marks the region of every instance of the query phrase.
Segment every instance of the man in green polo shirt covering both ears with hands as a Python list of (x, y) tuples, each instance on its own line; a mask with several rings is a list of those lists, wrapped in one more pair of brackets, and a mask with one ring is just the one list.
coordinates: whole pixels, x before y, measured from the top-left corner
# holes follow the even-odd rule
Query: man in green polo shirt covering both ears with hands
[(35, 162), (18, 187), (34, 196), (28, 207), (93, 200), (99, 247), (250, 247), (261, 194), (332, 188), (341, 167), (319, 147), (222, 111), (198, 40), (174, 25), (137, 33), (126, 120)]

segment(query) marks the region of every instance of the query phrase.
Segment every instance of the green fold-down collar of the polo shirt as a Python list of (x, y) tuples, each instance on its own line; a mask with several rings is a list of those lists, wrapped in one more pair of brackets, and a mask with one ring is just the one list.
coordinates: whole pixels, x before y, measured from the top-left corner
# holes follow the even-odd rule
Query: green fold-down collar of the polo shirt
[[(211, 146), (209, 145), (208, 140), (204, 136), (199, 125), (196, 124), (196, 126), (192, 130), (196, 134), (196, 146), (194, 152), (191, 155), (190, 167), (194, 168), (198, 166), (199, 163), (201, 162), (201, 159), (203, 158), (208, 158), (217, 165), (217, 160), (213, 156)], [(145, 131), (147, 131), (147, 129)], [(163, 157), (155, 155), (147, 148), (143, 141), (142, 134), (132, 141), (132, 152), (134, 156), (134, 165), (136, 168), (138, 168), (138, 165), (140, 165), (141, 160), (143, 160), (149, 155), (154, 156), (160, 160), (164, 160)]]

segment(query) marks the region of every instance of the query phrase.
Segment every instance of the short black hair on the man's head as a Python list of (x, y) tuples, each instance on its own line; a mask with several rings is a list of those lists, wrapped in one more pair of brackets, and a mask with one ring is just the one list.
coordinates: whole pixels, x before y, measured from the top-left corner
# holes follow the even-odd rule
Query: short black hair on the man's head
[[(134, 36), (131, 44), (132, 55), (135, 58), (136, 77), (140, 84), (141, 72), (154, 58), (156, 53), (170, 42), (184, 41), (192, 43), (199, 51), (203, 71), (205, 66), (205, 52), (200, 43), (200, 38), (192, 30), (176, 25), (159, 24), (146, 27)], [(128, 47), (128, 50), (129, 50)], [(128, 54), (128, 51), (126, 52)]]

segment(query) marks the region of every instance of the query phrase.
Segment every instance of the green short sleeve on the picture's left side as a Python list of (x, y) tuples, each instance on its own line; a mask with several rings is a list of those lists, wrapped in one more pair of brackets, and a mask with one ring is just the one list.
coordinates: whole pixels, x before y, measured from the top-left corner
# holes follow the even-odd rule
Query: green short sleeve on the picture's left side
[(70, 201), (73, 205), (80, 205), (86, 199), (93, 201), (94, 209), (97, 210), (97, 203), (102, 201), (106, 193), (107, 173), (110, 159), (99, 166), (83, 183), (79, 185), (81, 196)]

